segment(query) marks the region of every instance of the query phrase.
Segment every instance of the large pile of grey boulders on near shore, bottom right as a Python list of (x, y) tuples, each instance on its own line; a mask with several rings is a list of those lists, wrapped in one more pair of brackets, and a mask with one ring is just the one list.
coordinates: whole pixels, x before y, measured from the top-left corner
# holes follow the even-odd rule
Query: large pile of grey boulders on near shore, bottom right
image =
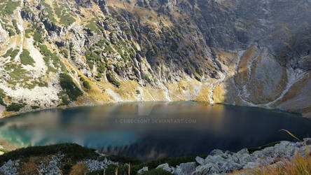
[[(310, 153), (311, 139), (304, 139)], [(302, 142), (281, 141), (275, 146), (264, 148), (261, 151), (249, 153), (247, 148), (233, 153), (230, 151), (214, 150), (207, 158), (197, 157), (196, 162), (188, 162), (170, 167), (167, 164), (159, 165), (175, 175), (199, 174), (226, 174), (240, 169), (254, 169), (265, 165), (280, 165), (282, 161), (294, 158), (295, 155), (307, 155), (306, 147)]]

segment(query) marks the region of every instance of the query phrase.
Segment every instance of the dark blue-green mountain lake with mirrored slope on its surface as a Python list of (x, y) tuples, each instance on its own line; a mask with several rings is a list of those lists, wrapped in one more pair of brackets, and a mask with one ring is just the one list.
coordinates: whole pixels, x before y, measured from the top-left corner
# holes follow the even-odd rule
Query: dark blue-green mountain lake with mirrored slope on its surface
[(141, 160), (237, 151), (311, 134), (292, 113), (196, 102), (133, 102), (53, 109), (0, 120), (0, 137), (19, 146), (74, 142)]

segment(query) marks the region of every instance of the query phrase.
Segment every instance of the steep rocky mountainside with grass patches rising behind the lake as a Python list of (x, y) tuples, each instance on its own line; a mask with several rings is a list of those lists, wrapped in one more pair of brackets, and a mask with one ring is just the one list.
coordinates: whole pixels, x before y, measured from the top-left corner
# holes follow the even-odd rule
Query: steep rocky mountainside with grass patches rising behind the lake
[(311, 116), (311, 1), (0, 1), (0, 113), (198, 100)]

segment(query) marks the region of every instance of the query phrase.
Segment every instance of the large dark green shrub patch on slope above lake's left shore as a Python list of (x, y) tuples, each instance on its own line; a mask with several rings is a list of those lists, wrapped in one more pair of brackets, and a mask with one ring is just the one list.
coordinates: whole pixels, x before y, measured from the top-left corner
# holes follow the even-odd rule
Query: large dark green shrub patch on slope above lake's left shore
[(66, 73), (60, 73), (60, 86), (71, 100), (76, 101), (82, 95), (81, 90), (76, 86), (71, 76)]

